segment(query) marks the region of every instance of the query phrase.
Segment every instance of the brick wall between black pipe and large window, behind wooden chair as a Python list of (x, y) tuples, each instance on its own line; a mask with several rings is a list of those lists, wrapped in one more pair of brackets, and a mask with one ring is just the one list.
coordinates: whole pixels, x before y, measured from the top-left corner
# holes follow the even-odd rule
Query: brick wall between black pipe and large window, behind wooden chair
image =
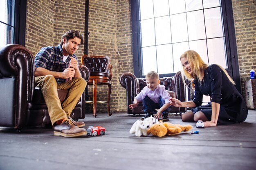
[[(128, 0), (90, 0), (88, 54), (108, 55), (111, 59), (111, 111), (126, 110), (126, 89), (121, 87), (119, 77), (133, 72), (130, 18)], [(107, 90), (106, 86), (97, 86), (97, 100), (107, 100)], [(92, 100), (92, 94), (89, 96)], [(106, 104), (97, 104), (97, 111), (106, 112)]]

